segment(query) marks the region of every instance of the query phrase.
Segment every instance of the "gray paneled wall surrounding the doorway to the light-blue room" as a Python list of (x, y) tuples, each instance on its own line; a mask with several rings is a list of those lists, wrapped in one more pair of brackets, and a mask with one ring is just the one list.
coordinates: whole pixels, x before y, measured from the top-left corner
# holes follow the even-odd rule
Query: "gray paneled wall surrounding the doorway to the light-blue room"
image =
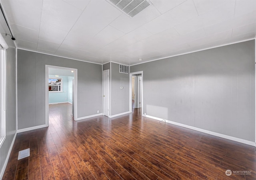
[(18, 49), (18, 129), (45, 124), (45, 65), (78, 69), (78, 118), (102, 111), (102, 65)]

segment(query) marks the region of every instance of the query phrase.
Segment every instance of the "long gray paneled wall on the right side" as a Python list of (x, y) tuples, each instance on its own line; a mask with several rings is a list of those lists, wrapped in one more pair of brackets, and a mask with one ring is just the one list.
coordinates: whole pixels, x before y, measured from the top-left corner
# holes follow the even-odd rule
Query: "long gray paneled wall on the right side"
[(144, 113), (255, 139), (254, 40), (130, 67), (143, 70)]

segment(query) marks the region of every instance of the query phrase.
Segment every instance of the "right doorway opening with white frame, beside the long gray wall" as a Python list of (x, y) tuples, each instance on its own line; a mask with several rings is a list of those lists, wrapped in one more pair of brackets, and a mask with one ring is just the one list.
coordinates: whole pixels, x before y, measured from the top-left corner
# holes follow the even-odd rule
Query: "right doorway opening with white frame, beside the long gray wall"
[(130, 112), (143, 110), (143, 72), (130, 73)]

